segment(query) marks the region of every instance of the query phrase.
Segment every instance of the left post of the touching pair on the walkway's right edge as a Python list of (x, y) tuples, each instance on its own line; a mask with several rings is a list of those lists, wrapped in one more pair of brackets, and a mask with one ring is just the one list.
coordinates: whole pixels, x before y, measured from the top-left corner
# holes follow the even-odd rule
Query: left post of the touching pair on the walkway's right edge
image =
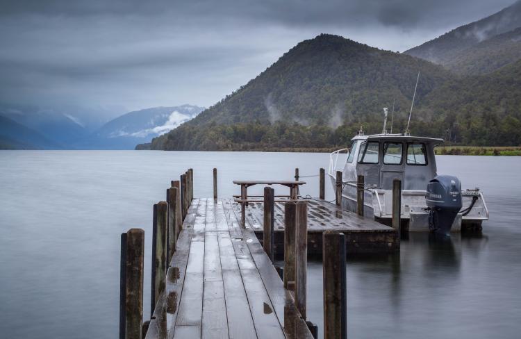
[(295, 202), (284, 204), (284, 288), (295, 290)]

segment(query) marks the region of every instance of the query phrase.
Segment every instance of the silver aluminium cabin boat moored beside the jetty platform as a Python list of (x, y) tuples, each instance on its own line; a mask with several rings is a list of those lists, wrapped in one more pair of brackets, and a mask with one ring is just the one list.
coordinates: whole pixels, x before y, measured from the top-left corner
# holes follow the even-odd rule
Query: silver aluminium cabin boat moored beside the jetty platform
[[(434, 181), (443, 182), (438, 180), (434, 155), (434, 147), (442, 142), (443, 139), (408, 133), (386, 133), (385, 124), (381, 134), (364, 135), (361, 130), (352, 138), (349, 149), (333, 151), (329, 156), (328, 176), (333, 188), (336, 185), (336, 171), (342, 171), (342, 208), (356, 212), (356, 180), (358, 175), (363, 175), (364, 215), (390, 225), (392, 181), (399, 179), (402, 181), (402, 230), (432, 231), (433, 209), (428, 206), (428, 201), (440, 197), (428, 193), (427, 186), (429, 183), (433, 185)], [(339, 163), (339, 158), (342, 158), (339, 154), (345, 151), (349, 152), (347, 158)], [(447, 177), (448, 185), (456, 182), (460, 185), (455, 177)], [(488, 208), (479, 188), (452, 188), (447, 192), (449, 195), (459, 195), (462, 207), (452, 218), (452, 224), (445, 227), (446, 231), (481, 231), (481, 223), (488, 220)]]

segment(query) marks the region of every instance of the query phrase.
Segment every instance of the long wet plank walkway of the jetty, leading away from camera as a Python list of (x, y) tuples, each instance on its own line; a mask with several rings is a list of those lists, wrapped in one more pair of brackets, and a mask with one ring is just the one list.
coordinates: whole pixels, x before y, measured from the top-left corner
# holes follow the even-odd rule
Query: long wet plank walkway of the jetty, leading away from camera
[(313, 338), (232, 201), (192, 201), (146, 338)]

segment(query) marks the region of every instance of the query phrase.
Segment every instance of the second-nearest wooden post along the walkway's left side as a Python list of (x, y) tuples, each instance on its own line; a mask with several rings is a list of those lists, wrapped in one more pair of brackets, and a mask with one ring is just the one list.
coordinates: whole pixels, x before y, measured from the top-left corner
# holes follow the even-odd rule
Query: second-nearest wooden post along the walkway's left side
[[(175, 190), (175, 188), (174, 188)], [(165, 201), (154, 204), (154, 220), (152, 222), (152, 281), (150, 291), (150, 316), (154, 315), (154, 308), (159, 295), (165, 290), (167, 272), (167, 253), (171, 250), (167, 243), (167, 211)]]

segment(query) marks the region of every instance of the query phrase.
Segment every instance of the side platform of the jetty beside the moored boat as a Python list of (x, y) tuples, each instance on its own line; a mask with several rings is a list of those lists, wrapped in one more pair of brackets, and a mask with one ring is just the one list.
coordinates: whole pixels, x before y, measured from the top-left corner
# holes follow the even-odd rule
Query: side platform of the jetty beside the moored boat
[[(380, 224), (367, 217), (342, 210), (340, 206), (320, 199), (304, 199), (308, 202), (308, 253), (322, 254), (322, 233), (340, 231), (345, 234), (346, 251), (352, 254), (390, 252), (399, 248), (396, 229)], [(235, 213), (240, 204), (233, 203)], [(263, 238), (263, 204), (249, 203), (246, 208), (246, 228)], [(274, 251), (283, 254), (284, 205), (274, 205)]]

